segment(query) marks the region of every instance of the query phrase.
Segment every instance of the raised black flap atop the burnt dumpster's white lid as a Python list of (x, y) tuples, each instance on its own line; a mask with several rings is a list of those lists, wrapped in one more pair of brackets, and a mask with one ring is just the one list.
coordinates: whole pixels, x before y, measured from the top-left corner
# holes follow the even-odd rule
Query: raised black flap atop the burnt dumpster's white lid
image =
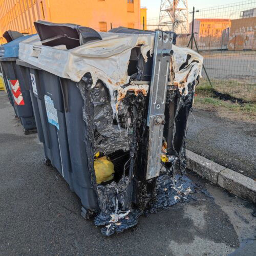
[(66, 45), (67, 49), (73, 49), (91, 40), (102, 40), (94, 29), (76, 24), (38, 20), (34, 25), (44, 46)]

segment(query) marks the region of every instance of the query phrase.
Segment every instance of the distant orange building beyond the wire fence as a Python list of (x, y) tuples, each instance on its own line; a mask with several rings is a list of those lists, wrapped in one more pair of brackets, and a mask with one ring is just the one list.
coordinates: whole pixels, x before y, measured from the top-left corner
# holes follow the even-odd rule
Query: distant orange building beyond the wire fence
[[(194, 20), (194, 33), (199, 37), (221, 37), (222, 31), (229, 28), (231, 20), (226, 18), (197, 18)], [(192, 23), (189, 24), (189, 33), (192, 31)]]

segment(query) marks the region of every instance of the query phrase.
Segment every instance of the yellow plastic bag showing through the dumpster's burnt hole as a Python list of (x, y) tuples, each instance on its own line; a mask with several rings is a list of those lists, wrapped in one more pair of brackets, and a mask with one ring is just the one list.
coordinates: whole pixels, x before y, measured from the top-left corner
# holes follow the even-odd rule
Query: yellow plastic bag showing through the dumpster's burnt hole
[(100, 157), (94, 161), (94, 170), (97, 184), (114, 178), (114, 164), (106, 157)]

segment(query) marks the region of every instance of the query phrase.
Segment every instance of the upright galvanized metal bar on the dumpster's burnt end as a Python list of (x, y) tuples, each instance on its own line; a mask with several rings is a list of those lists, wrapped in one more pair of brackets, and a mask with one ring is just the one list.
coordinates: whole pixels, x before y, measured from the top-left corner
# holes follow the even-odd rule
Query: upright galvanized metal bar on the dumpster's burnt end
[(161, 167), (164, 111), (169, 77), (170, 56), (173, 55), (173, 34), (156, 31), (153, 70), (148, 103), (149, 127), (146, 179), (158, 177)]

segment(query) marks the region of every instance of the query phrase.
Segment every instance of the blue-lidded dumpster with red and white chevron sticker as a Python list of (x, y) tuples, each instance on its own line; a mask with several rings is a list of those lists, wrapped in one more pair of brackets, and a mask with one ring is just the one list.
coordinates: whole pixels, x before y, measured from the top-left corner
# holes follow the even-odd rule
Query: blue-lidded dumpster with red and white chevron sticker
[[(8, 32), (8, 33), (7, 33)], [(20, 36), (16, 31), (7, 31), (5, 36), (9, 41), (0, 47), (0, 62), (3, 71), (4, 82), (10, 103), (16, 116), (24, 127), (24, 133), (29, 134), (36, 131), (35, 118), (29, 94), (29, 86), (24, 81), (19, 66), (16, 65), (18, 58), (19, 42), (31, 37)]]

